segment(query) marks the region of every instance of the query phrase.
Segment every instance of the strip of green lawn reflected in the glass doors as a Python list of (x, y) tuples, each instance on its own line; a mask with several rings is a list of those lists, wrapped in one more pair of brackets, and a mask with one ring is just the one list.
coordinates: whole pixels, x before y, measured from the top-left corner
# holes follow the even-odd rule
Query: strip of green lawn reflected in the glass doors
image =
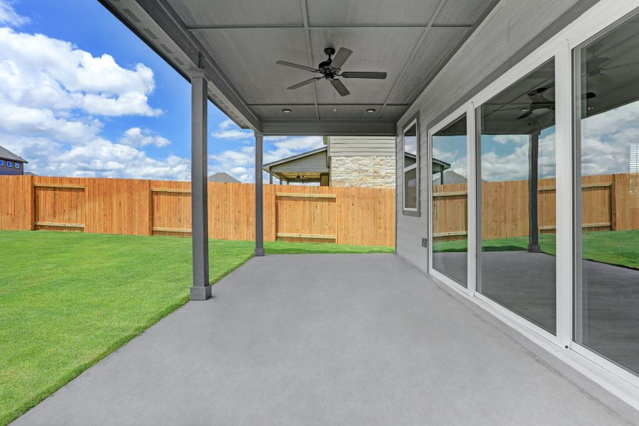
[[(583, 243), (586, 259), (639, 269), (639, 230), (587, 232), (583, 234)], [(557, 253), (555, 234), (540, 234), (539, 245), (545, 253)], [(527, 236), (489, 239), (482, 243), (484, 251), (526, 250), (527, 247)], [(434, 244), (433, 250), (466, 251), (466, 240), (440, 241)]]

